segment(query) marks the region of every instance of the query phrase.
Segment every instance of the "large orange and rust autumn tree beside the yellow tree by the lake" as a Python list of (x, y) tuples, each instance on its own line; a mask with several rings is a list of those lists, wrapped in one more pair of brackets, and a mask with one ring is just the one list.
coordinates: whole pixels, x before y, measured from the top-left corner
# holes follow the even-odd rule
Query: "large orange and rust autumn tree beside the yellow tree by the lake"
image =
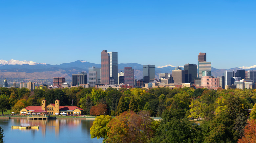
[(146, 113), (141, 111), (135, 114), (133, 111), (125, 111), (112, 119), (107, 127), (107, 138), (104, 142), (148, 142), (154, 134), (154, 121)]

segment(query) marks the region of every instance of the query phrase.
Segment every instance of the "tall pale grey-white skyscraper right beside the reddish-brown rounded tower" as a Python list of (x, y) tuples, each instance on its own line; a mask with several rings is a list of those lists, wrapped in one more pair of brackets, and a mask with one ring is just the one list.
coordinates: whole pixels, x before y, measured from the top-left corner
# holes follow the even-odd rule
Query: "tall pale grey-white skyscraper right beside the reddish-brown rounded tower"
[(118, 73), (118, 62), (117, 62), (117, 52), (108, 52), (110, 56), (110, 77), (115, 79), (115, 84), (117, 84), (117, 73)]

